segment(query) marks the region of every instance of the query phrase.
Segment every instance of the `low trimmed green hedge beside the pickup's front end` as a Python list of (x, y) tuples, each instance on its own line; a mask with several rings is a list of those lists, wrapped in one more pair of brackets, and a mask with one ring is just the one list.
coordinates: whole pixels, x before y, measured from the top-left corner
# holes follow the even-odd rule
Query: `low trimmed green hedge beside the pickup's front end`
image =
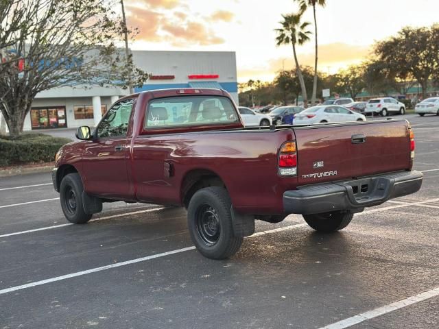
[(45, 134), (21, 134), (16, 138), (0, 136), (0, 167), (29, 162), (51, 162), (69, 138)]

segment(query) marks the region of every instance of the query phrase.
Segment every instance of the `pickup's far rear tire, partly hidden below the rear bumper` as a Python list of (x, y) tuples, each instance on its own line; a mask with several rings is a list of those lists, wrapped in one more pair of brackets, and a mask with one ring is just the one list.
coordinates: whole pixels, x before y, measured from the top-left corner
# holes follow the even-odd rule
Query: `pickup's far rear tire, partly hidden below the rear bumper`
[(311, 228), (318, 232), (335, 232), (346, 228), (354, 216), (353, 212), (324, 212), (315, 215), (302, 215)]

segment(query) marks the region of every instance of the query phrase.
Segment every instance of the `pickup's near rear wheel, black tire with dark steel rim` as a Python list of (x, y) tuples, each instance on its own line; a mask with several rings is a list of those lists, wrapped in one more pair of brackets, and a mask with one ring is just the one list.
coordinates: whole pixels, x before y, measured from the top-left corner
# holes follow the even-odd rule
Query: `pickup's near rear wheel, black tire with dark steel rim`
[(198, 251), (212, 259), (233, 256), (244, 238), (233, 234), (232, 203), (225, 188), (206, 187), (195, 192), (187, 208), (187, 226)]

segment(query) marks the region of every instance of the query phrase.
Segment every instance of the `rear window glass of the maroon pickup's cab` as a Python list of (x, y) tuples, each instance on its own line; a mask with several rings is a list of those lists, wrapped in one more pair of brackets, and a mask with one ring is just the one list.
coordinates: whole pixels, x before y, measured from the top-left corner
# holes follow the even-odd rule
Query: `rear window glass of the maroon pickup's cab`
[(234, 123), (239, 119), (230, 99), (185, 96), (153, 99), (145, 116), (145, 128)]

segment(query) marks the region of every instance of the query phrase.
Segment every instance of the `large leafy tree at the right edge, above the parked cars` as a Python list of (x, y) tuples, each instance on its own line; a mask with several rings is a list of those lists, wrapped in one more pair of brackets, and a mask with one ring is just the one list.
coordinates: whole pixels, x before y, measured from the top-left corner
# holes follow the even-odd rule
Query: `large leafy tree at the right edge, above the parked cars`
[(432, 27), (404, 27), (388, 40), (375, 45), (375, 54), (392, 69), (399, 81), (414, 77), (422, 86), (423, 97), (429, 80), (439, 69), (439, 25)]

